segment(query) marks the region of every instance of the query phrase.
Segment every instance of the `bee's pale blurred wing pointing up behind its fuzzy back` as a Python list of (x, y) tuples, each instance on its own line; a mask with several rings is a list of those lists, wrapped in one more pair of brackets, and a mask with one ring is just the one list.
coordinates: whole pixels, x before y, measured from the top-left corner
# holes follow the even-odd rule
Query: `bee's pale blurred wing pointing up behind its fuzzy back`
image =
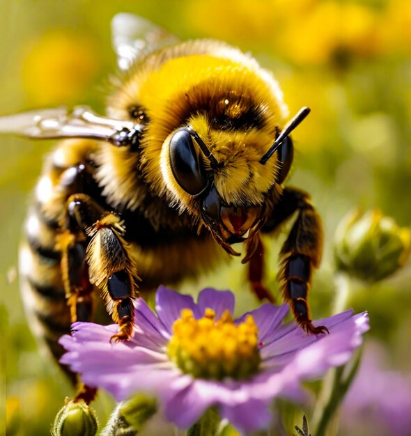
[(120, 13), (111, 21), (111, 41), (117, 54), (118, 67), (128, 70), (139, 57), (175, 44), (178, 38), (145, 18)]

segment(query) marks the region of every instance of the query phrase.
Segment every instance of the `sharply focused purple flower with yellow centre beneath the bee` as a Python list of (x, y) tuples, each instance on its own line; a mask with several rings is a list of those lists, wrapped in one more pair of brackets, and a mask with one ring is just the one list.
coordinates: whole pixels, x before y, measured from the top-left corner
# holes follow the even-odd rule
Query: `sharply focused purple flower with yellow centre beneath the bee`
[(301, 398), (300, 381), (345, 364), (369, 329), (366, 313), (324, 318), (329, 335), (307, 335), (294, 322), (281, 325), (286, 304), (263, 304), (237, 320), (234, 295), (204, 289), (198, 302), (160, 287), (156, 312), (135, 304), (134, 336), (110, 343), (117, 325), (76, 322), (60, 343), (61, 362), (116, 400), (144, 391), (159, 396), (167, 419), (180, 428), (216, 405), (222, 417), (248, 432), (267, 428), (273, 398)]

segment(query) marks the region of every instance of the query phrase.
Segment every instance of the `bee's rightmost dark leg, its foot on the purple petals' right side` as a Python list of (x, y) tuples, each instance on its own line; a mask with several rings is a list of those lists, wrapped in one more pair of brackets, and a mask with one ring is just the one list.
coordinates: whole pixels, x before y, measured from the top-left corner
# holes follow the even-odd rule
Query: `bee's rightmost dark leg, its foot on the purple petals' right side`
[(274, 230), (294, 212), (297, 212), (295, 223), (281, 248), (279, 283), (297, 323), (308, 333), (324, 333), (327, 327), (313, 326), (307, 302), (313, 268), (319, 266), (323, 251), (321, 219), (309, 201), (309, 194), (295, 188), (284, 189), (274, 216), (263, 231)]

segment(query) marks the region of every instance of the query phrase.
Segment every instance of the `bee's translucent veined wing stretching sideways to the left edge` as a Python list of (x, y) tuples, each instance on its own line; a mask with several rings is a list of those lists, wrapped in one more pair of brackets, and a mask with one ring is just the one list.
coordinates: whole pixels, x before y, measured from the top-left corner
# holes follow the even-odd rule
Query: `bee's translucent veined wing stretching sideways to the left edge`
[(95, 114), (84, 106), (72, 111), (61, 107), (38, 109), (0, 117), (0, 134), (17, 134), (33, 139), (87, 138), (115, 146), (136, 145), (142, 126)]

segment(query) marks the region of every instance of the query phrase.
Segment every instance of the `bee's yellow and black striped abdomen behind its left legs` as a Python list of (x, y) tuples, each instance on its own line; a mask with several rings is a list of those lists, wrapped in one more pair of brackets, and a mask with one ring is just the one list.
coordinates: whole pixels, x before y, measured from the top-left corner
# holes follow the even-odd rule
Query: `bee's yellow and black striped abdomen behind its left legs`
[(70, 309), (61, 277), (61, 252), (56, 247), (65, 213), (65, 203), (76, 187), (73, 169), (91, 160), (93, 141), (63, 141), (49, 155), (33, 192), (24, 225), (19, 270), (22, 299), (33, 333), (42, 338), (58, 359), (57, 343), (70, 332)]

